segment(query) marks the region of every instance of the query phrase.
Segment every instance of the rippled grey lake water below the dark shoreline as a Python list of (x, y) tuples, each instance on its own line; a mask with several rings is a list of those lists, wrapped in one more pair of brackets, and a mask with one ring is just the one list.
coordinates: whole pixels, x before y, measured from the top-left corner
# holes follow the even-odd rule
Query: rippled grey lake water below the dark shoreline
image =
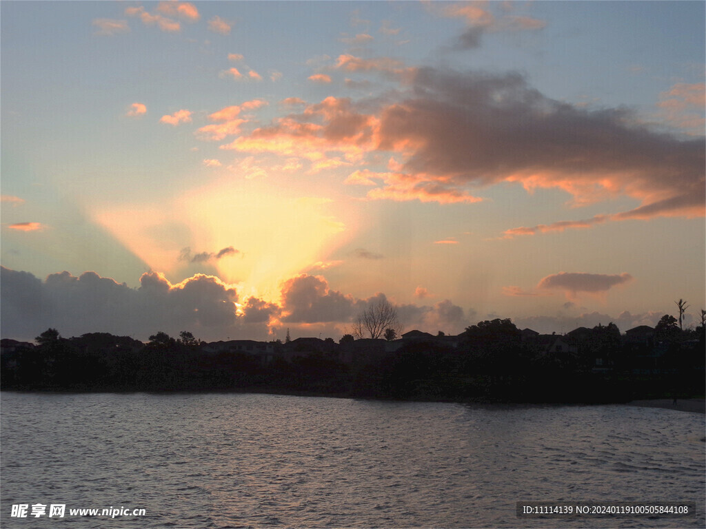
[[(14, 528), (705, 527), (704, 415), (267, 394), (1, 403)], [(696, 501), (695, 518), (527, 520), (515, 502)], [(38, 518), (13, 504), (46, 504)], [(66, 504), (49, 518), (50, 504)], [(69, 516), (69, 509), (145, 516)]]

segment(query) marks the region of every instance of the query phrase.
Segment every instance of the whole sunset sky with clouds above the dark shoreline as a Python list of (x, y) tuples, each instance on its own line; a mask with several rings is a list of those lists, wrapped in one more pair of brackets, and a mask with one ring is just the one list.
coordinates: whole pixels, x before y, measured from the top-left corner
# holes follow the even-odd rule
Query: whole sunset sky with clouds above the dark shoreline
[(706, 308), (702, 1), (11, 1), (0, 332)]

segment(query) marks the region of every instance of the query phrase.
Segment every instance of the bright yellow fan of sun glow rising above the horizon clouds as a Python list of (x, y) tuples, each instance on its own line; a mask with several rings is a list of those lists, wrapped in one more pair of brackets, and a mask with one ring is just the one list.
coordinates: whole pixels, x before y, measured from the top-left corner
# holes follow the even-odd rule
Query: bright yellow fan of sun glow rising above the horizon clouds
[[(223, 180), (167, 204), (100, 209), (94, 219), (152, 269), (174, 279), (194, 272), (184, 248), (203, 260), (241, 300), (277, 302), (282, 281), (323, 262), (352, 236), (331, 213), (333, 203), (301, 197), (262, 181)], [(222, 258), (219, 250), (234, 248)], [(183, 279), (183, 278), (182, 278)]]

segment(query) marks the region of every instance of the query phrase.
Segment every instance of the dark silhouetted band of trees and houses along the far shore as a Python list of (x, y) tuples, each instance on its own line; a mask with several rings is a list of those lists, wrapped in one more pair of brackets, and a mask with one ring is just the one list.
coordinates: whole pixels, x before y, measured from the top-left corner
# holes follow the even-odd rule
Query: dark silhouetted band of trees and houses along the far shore
[[(704, 326), (683, 330), (665, 316), (654, 329), (659, 358), (623, 343), (614, 324), (586, 329), (575, 351), (547, 352), (522, 337), (511, 320), (467, 327), (451, 344), (405, 341), (397, 351), (361, 354), (352, 362), (340, 343), (273, 358), (205, 351), (191, 332), (164, 332), (148, 343), (89, 333), (64, 339), (56, 329), (37, 346), (3, 354), (2, 389), (40, 391), (266, 391), (379, 399), (511, 402), (618, 402), (704, 393)], [(361, 342), (364, 343), (364, 342)], [(654, 348), (654, 347), (653, 347)], [(364, 353), (365, 351), (357, 351)], [(595, 358), (609, 369), (596, 370)], [(638, 367), (645, 367), (646, 370)], [(654, 365), (653, 365), (654, 361)]]

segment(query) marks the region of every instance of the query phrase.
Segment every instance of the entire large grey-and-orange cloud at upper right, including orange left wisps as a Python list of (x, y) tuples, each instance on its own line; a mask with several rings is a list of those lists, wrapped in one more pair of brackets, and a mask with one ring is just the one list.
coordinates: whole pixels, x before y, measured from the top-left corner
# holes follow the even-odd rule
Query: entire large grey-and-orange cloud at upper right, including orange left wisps
[[(352, 55), (333, 68), (394, 75), (406, 90), (365, 102), (327, 97), (222, 148), (299, 157), (313, 170), (350, 164), (346, 183), (372, 186), (369, 200), (471, 204), (482, 200), (474, 190), (520, 183), (528, 193), (563, 190), (573, 207), (638, 202), (589, 219), (511, 228), (506, 238), (705, 212), (704, 142), (656, 132), (627, 109), (559, 102), (512, 72), (405, 68)], [(691, 93), (675, 93), (683, 92)], [(368, 164), (383, 156), (394, 166), (373, 171)]]

